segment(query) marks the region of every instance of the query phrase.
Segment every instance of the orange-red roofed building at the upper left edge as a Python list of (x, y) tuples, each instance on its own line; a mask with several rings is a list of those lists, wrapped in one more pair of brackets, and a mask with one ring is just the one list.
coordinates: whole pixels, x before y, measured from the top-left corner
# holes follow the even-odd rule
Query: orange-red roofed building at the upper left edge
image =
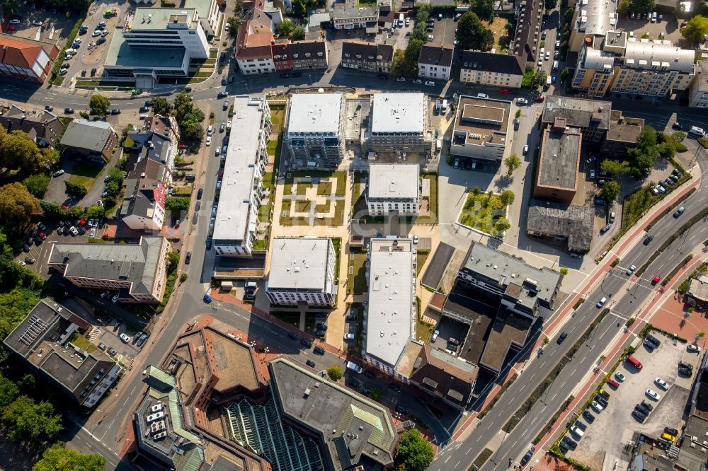
[(57, 55), (54, 43), (0, 34), (0, 75), (44, 83)]

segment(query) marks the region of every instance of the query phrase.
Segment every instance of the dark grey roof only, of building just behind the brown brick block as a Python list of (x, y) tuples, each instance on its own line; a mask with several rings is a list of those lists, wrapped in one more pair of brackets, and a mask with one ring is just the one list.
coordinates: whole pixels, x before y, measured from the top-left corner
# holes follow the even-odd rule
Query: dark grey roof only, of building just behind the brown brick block
[(568, 126), (609, 129), (611, 111), (609, 101), (548, 95), (543, 105), (543, 122), (553, 124), (556, 118), (564, 118)]

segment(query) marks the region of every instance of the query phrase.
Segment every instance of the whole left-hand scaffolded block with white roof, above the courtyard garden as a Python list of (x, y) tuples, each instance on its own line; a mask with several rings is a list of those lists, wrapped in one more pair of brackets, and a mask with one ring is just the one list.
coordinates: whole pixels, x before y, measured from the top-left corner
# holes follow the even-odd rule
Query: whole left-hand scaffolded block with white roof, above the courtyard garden
[(291, 168), (336, 166), (344, 153), (344, 95), (295, 93), (283, 141)]

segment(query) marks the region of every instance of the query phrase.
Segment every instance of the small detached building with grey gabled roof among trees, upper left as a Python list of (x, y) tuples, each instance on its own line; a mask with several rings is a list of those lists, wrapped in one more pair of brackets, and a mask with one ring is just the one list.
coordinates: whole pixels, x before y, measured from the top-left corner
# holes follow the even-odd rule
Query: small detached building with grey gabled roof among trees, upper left
[(113, 156), (113, 149), (118, 145), (118, 134), (108, 122), (80, 118), (69, 123), (61, 144), (67, 156), (103, 164)]

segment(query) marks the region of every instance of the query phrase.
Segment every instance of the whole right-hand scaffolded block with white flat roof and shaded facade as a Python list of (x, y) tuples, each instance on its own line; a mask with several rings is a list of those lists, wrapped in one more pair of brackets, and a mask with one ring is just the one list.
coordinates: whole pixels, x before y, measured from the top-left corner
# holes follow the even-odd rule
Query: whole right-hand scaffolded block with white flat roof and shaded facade
[(367, 148), (375, 152), (430, 152), (433, 133), (428, 126), (424, 93), (375, 93), (372, 99)]

